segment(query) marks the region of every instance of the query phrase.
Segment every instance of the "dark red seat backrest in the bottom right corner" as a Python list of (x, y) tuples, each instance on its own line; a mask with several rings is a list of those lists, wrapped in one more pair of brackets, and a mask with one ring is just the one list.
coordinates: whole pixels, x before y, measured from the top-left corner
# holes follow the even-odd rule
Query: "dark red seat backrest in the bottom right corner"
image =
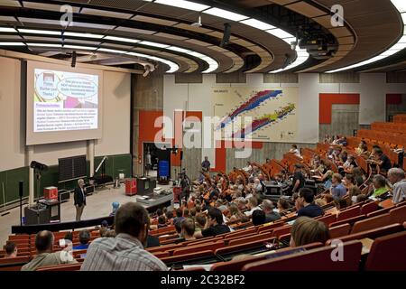
[(406, 271), (406, 231), (375, 238), (365, 271)]

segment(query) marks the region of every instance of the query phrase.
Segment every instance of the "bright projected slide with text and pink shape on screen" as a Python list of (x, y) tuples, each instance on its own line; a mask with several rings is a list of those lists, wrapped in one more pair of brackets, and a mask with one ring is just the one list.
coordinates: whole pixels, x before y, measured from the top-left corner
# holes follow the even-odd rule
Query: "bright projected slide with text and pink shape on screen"
[(33, 131), (97, 129), (98, 75), (34, 70)]

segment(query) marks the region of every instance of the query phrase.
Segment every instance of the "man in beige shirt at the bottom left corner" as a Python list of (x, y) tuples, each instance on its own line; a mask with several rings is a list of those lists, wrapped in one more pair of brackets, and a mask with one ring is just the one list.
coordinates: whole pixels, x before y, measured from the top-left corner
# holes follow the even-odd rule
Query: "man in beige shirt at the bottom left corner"
[[(78, 263), (67, 251), (52, 252), (54, 243), (53, 234), (50, 231), (41, 231), (35, 236), (35, 248), (37, 254), (30, 263), (25, 264), (22, 271), (35, 271), (42, 266)], [(63, 254), (63, 253), (65, 254)]]

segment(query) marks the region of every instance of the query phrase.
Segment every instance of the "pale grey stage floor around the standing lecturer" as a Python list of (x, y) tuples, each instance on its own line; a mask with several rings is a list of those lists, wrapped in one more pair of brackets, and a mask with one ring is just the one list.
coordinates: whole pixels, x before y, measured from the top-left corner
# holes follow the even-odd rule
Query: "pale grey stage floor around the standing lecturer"
[[(161, 186), (162, 189), (168, 189), (170, 186)], [(120, 204), (125, 204), (129, 201), (136, 201), (135, 196), (125, 195), (125, 184), (121, 184), (120, 188), (114, 189), (112, 186), (107, 186), (104, 189), (97, 190), (96, 193), (88, 196), (87, 206), (83, 210), (82, 219), (94, 219), (108, 216), (112, 211), (112, 203), (118, 201)], [(23, 206), (25, 207), (25, 206)], [(20, 223), (20, 208), (9, 210), (9, 214), (0, 217), (0, 247), (5, 245), (5, 241), (11, 234), (11, 227)], [(70, 194), (70, 199), (60, 205), (61, 221), (75, 220), (76, 210), (73, 206), (73, 194)]]

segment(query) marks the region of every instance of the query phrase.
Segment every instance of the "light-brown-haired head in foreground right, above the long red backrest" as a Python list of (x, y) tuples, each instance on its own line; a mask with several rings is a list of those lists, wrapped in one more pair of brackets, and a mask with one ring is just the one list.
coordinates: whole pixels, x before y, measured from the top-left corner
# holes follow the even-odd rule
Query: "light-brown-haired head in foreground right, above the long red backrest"
[(325, 244), (330, 238), (330, 231), (325, 223), (317, 219), (300, 217), (291, 227), (291, 247), (300, 247), (311, 243)]

